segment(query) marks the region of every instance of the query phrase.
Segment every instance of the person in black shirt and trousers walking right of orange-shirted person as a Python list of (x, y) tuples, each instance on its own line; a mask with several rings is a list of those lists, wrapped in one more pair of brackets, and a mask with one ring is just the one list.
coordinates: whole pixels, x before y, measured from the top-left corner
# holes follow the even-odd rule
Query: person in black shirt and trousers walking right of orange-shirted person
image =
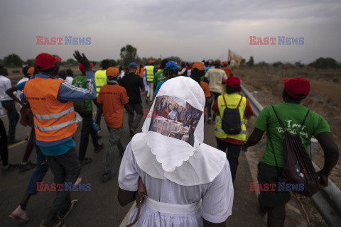
[(126, 89), (126, 94), (129, 97), (129, 106), (136, 112), (134, 115), (128, 114), (128, 125), (131, 136), (134, 136), (136, 129), (139, 128), (144, 111), (142, 109), (141, 92), (144, 92), (144, 82), (139, 75), (135, 74), (137, 65), (135, 62), (129, 64), (129, 72), (120, 80), (119, 85)]

